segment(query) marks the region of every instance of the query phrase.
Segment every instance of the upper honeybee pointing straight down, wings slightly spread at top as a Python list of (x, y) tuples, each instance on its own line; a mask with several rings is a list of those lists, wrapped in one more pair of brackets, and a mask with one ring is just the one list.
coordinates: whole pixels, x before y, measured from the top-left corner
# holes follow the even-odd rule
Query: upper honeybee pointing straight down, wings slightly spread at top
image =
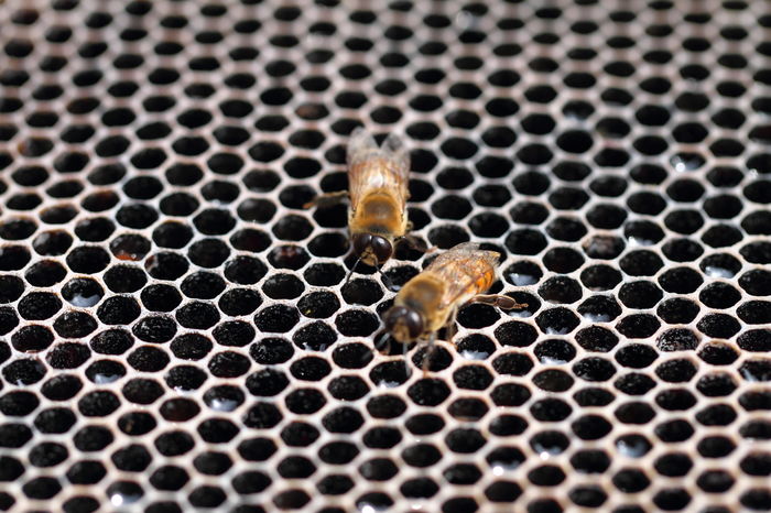
[(390, 134), (379, 148), (362, 128), (351, 134), (347, 153), (349, 190), (326, 194), (307, 206), (348, 196), (348, 231), (354, 253), (358, 261), (377, 268), (393, 256), (395, 242), (406, 240), (410, 230), (406, 215), (410, 154), (397, 135)]

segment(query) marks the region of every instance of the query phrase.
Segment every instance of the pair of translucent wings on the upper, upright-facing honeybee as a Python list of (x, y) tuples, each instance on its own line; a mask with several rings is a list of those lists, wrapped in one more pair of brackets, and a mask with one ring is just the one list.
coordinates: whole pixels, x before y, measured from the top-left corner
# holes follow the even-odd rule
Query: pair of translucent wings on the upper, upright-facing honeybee
[(354, 131), (348, 142), (348, 190), (354, 210), (362, 197), (381, 190), (394, 196), (404, 211), (409, 181), (410, 154), (401, 139), (390, 134), (378, 148), (363, 128)]

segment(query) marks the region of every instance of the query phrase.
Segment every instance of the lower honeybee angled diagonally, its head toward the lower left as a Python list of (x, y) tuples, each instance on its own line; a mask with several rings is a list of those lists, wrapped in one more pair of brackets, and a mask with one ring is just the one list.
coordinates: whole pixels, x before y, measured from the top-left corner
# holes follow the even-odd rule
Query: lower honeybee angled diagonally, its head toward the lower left
[[(482, 303), (503, 309), (524, 308), (509, 296), (485, 294), (496, 281), (500, 253), (466, 242), (438, 255), (423, 272), (406, 282), (383, 314), (387, 334), (406, 345), (427, 339), (433, 349), (436, 332), (452, 328), (458, 309)], [(424, 359), (424, 370), (428, 354)]]

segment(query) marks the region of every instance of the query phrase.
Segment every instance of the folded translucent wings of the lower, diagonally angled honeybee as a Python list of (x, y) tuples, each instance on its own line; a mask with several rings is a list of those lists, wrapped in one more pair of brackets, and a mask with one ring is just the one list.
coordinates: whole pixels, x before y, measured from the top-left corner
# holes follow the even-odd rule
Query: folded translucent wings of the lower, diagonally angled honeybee
[(466, 242), (438, 255), (426, 269), (445, 283), (441, 308), (460, 306), (496, 281), (500, 254)]

